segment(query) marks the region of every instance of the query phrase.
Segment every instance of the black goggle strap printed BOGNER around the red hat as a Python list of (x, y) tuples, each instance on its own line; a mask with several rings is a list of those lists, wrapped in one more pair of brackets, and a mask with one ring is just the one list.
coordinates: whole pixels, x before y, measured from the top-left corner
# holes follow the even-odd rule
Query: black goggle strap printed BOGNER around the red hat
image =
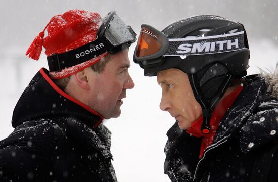
[(103, 36), (69, 52), (53, 54), (47, 57), (49, 71), (61, 71), (62, 69), (78, 65), (96, 58), (112, 48), (113, 45)]

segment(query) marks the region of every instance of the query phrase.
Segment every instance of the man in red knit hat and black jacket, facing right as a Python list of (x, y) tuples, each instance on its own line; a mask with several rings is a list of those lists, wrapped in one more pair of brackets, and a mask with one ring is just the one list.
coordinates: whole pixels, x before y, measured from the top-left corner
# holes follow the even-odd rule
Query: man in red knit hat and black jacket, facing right
[(120, 116), (134, 87), (135, 41), (113, 11), (101, 19), (70, 10), (50, 20), (26, 53), (38, 60), (43, 46), (49, 71), (38, 71), (14, 109), (15, 130), (0, 142), (1, 181), (117, 181), (102, 121)]

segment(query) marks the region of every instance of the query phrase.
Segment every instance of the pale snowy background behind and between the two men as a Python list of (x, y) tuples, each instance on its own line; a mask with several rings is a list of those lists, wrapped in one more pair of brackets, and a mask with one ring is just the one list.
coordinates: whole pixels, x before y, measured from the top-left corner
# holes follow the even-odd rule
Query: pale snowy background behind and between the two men
[[(21, 93), (41, 67), (47, 67), (42, 53), (39, 61), (25, 57), (34, 37), (56, 14), (70, 9), (98, 11), (105, 16), (115, 10), (138, 33), (141, 24), (162, 30), (178, 19), (213, 14), (241, 22), (247, 30), (251, 51), (248, 74), (258, 67), (273, 70), (278, 62), (278, 0), (0, 0), (0, 140), (13, 131), (13, 108)], [(105, 121), (112, 131), (112, 154), (118, 181), (170, 181), (163, 174), (166, 132), (174, 119), (159, 110), (161, 88), (155, 77), (143, 77), (133, 63), (130, 75), (135, 87), (128, 90), (122, 115)]]

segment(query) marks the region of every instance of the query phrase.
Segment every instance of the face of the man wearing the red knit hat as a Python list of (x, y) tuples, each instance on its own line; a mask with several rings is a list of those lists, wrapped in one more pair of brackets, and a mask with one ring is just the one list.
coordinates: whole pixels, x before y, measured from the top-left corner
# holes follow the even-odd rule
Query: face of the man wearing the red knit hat
[(126, 89), (134, 87), (128, 73), (130, 62), (128, 49), (113, 54), (102, 73), (91, 71), (91, 85), (88, 105), (105, 119), (116, 118), (121, 114), (122, 99), (126, 97)]

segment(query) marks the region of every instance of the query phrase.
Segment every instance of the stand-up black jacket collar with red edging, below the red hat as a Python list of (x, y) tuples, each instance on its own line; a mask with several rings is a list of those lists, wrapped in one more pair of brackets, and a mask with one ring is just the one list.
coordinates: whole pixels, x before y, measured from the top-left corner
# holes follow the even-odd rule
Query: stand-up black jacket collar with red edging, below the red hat
[(41, 68), (21, 95), (13, 112), (12, 125), (53, 116), (78, 118), (89, 127), (97, 127), (103, 117), (94, 109), (63, 92)]

